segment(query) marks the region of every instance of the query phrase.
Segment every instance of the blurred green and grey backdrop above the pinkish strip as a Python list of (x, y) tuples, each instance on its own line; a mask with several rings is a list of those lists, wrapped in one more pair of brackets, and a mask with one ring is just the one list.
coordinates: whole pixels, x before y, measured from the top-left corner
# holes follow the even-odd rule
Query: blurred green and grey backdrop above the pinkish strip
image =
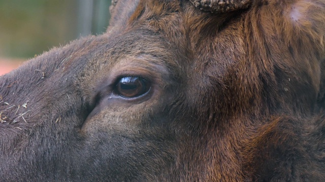
[(0, 0), (0, 58), (28, 59), (105, 32), (111, 0)]

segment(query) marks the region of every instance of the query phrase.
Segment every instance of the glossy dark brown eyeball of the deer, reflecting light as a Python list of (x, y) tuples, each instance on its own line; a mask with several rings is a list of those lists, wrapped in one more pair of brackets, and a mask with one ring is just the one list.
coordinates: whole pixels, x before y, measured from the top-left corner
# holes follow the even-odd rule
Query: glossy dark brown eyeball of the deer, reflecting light
[(124, 98), (139, 97), (146, 94), (149, 89), (149, 81), (141, 77), (122, 77), (116, 84), (116, 94)]

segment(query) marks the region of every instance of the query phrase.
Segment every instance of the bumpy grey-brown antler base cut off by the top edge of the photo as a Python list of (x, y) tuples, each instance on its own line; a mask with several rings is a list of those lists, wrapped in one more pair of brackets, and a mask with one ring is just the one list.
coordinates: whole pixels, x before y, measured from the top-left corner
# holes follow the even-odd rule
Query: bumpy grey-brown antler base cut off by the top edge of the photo
[(248, 8), (252, 0), (189, 0), (194, 6), (212, 13), (226, 13)]

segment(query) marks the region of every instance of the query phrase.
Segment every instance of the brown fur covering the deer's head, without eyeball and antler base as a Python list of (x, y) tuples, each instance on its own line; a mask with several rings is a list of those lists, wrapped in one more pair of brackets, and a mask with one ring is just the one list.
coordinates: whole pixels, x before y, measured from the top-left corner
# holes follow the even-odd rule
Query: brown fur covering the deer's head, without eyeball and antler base
[[(0, 180), (325, 180), (325, 1), (112, 13), (107, 33), (0, 77)], [(114, 95), (129, 75), (150, 92)]]

